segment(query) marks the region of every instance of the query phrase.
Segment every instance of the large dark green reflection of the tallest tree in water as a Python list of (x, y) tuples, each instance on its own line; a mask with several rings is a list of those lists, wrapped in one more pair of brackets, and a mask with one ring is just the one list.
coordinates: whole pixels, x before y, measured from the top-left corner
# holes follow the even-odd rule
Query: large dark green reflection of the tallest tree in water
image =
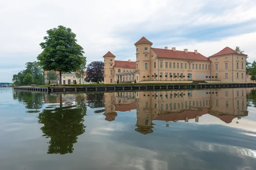
[(85, 132), (84, 116), (86, 105), (82, 96), (76, 96), (77, 105), (43, 110), (39, 113), (38, 122), (44, 124), (41, 127), (43, 136), (51, 138), (49, 141), (49, 154), (73, 153), (73, 144), (78, 136)]

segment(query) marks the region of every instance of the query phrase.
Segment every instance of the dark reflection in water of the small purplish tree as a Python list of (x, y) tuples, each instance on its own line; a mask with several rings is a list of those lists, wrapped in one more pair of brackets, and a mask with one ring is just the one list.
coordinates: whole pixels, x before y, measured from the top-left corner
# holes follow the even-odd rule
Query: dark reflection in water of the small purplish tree
[(90, 108), (105, 108), (104, 93), (88, 93), (87, 106)]

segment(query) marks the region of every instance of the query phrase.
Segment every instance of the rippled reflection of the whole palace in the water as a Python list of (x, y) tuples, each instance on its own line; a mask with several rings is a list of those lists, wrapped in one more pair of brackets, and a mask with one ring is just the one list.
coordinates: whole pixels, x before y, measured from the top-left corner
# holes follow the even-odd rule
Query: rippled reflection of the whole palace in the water
[[(105, 120), (113, 121), (116, 111), (137, 109), (137, 132), (153, 132), (153, 120), (185, 121), (210, 114), (225, 123), (247, 116), (248, 88), (173, 91), (115, 92), (105, 94)], [(166, 124), (169, 126), (169, 124)]]

